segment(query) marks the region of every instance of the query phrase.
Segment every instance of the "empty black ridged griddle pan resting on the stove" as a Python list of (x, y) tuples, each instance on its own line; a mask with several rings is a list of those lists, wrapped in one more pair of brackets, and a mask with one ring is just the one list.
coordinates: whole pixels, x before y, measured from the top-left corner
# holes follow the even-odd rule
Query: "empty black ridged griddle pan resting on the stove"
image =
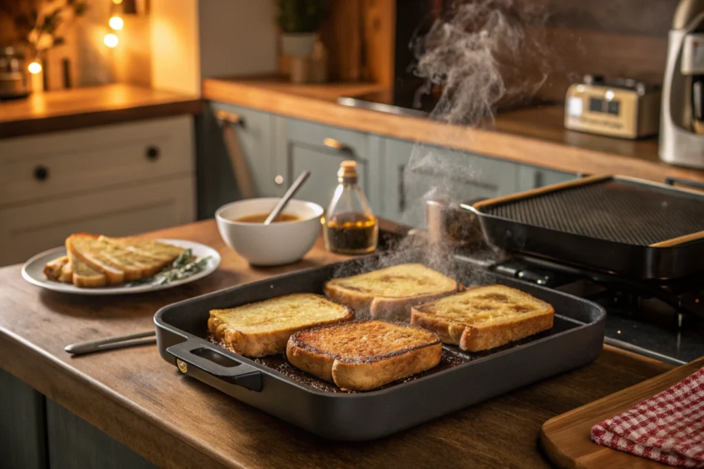
[(631, 278), (704, 270), (704, 193), (592, 176), (463, 207), (505, 250)]

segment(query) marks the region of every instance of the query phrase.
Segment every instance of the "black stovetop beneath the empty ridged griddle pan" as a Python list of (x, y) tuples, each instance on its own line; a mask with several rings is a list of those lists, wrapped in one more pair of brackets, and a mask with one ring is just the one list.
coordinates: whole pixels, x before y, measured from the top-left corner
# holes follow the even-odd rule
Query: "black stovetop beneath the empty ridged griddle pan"
[[(483, 247), (458, 258), (499, 276), (522, 278), (584, 297), (607, 311), (604, 342), (681, 365), (704, 356), (704, 276), (640, 282)], [(678, 302), (679, 300), (679, 302)], [(704, 306), (704, 305), (703, 305)]]

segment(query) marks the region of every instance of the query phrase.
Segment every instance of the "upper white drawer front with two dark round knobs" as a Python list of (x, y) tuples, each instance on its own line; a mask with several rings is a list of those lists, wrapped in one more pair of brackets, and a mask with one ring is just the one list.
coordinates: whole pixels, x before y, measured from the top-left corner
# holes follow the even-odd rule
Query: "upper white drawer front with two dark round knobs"
[(191, 116), (0, 140), (0, 207), (194, 172)]

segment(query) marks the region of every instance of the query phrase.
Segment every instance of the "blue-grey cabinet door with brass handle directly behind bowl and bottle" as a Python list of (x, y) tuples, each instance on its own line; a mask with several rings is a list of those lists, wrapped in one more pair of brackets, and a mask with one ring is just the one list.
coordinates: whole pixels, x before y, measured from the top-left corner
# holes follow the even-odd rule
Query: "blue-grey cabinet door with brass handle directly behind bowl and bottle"
[(375, 210), (379, 198), (370, 184), (374, 162), (370, 160), (367, 134), (278, 117), (277, 135), (277, 174), (283, 176), (284, 185), (289, 186), (301, 172), (310, 171), (296, 198), (327, 208), (337, 186), (340, 163), (355, 160), (360, 187)]

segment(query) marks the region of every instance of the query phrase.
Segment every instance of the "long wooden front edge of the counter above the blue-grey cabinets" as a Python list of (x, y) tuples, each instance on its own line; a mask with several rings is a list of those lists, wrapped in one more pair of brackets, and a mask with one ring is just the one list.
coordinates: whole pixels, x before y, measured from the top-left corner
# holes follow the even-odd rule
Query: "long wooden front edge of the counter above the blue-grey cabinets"
[(704, 181), (704, 172), (633, 156), (605, 153), (506, 131), (470, 129), (418, 117), (351, 108), (246, 80), (206, 79), (203, 98), (394, 139), (464, 150), (494, 158), (581, 174), (626, 174), (659, 181), (679, 177)]

